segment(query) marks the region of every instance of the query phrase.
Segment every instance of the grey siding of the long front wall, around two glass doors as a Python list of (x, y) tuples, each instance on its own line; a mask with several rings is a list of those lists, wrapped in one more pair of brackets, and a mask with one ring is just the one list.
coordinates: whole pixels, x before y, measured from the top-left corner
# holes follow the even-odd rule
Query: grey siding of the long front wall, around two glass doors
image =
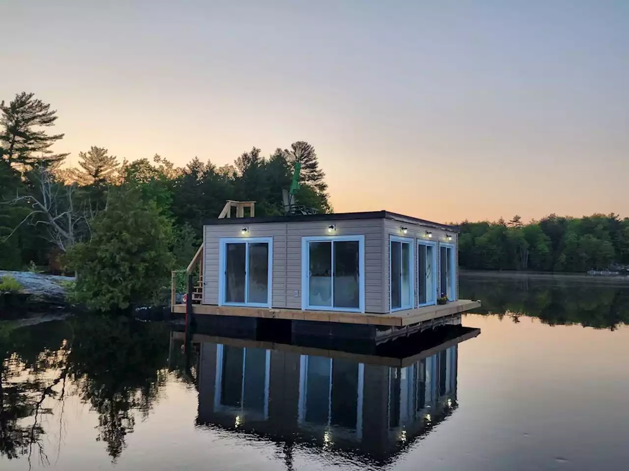
[[(388, 293), (384, 291), (385, 287), (388, 290), (388, 281), (386, 285), (382, 284), (383, 219), (248, 224), (246, 236), (241, 233), (243, 226), (238, 224), (206, 225), (203, 234), (203, 304), (218, 305), (221, 238), (273, 237), (272, 307), (301, 309), (301, 239), (330, 236), (330, 224), (336, 225), (335, 236), (365, 237), (365, 311), (384, 313), (383, 293)], [(388, 295), (386, 298), (388, 305)]]

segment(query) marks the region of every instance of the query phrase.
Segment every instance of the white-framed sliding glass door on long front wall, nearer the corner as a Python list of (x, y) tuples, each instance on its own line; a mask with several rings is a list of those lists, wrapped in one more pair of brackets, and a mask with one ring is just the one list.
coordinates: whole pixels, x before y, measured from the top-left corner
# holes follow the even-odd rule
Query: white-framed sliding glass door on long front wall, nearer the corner
[(364, 237), (303, 237), (304, 309), (364, 311)]

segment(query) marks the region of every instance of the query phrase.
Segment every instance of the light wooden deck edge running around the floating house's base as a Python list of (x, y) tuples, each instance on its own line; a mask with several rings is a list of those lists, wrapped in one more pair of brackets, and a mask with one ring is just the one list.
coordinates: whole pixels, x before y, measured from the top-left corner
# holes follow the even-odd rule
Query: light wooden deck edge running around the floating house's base
[[(298, 309), (249, 308), (241, 306), (214, 306), (195, 304), (192, 312), (199, 315), (257, 317), (265, 319), (308, 320), (313, 322), (339, 322), (346, 324), (386, 325), (404, 327), (406, 325), (425, 322), (481, 306), (481, 301), (458, 300), (447, 305), (424, 306), (408, 311), (391, 314), (362, 314), (337, 311), (303, 311)], [(172, 307), (174, 313), (185, 313), (186, 305), (177, 304)]]

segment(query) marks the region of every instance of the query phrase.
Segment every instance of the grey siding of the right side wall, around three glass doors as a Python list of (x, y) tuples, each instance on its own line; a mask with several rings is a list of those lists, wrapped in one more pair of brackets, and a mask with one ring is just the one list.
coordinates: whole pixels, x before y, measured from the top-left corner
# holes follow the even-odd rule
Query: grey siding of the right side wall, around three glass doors
[[(404, 234), (402, 227), (406, 227), (407, 231)], [(432, 237), (429, 239), (426, 237), (426, 230), (432, 232)], [(447, 241), (446, 236), (452, 236), (452, 241)], [(382, 286), (384, 286), (384, 296), (382, 296), (382, 312), (387, 313), (391, 310), (391, 296), (389, 286), (389, 241), (391, 236), (406, 237), (407, 239), (413, 239), (413, 257), (415, 263), (413, 264), (413, 299), (414, 306), (417, 305), (417, 241), (430, 241), (437, 242), (437, 264), (439, 263), (439, 244), (448, 243), (454, 244), (454, 256), (455, 256), (455, 283), (457, 297), (459, 295), (459, 238), (455, 232), (448, 232), (446, 230), (435, 229), (421, 224), (412, 224), (410, 222), (396, 221), (391, 219), (384, 220), (384, 246), (382, 247)], [(437, 283), (439, 283), (439, 276), (437, 274)]]

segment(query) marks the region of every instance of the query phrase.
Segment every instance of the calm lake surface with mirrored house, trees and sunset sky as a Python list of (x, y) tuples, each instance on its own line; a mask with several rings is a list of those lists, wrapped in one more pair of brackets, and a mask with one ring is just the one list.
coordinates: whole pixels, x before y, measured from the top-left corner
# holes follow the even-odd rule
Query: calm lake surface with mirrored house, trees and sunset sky
[(460, 297), (483, 301), (463, 327), (376, 354), (0, 323), (0, 469), (626, 469), (629, 286), (464, 277)]

